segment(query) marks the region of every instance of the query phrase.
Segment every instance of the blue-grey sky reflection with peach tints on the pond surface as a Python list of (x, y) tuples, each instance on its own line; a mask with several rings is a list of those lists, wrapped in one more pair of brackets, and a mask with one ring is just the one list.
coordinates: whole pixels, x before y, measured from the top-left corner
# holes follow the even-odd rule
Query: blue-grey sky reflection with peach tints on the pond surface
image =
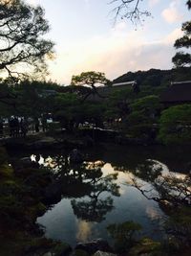
[[(47, 159), (46, 163), (49, 162)], [(51, 165), (51, 162), (49, 162)], [(106, 227), (108, 224), (123, 221), (136, 221), (143, 227), (143, 235), (153, 239), (159, 239), (162, 233), (159, 231), (159, 223), (163, 215), (158, 204), (153, 200), (144, 198), (138, 190), (130, 185), (132, 174), (114, 171), (111, 164), (106, 163), (102, 167), (103, 175), (116, 174), (117, 184), (120, 186), (120, 197), (113, 197), (114, 209), (105, 215), (105, 220), (101, 222), (83, 221), (74, 216), (71, 205), (73, 198), (63, 198), (55, 204), (43, 217), (37, 219), (40, 224), (46, 227), (47, 237), (66, 241), (75, 244), (78, 241), (91, 241), (96, 238), (103, 238), (110, 241)], [(111, 196), (108, 192), (100, 195), (104, 199)], [(75, 198), (87, 200), (84, 198)]]

